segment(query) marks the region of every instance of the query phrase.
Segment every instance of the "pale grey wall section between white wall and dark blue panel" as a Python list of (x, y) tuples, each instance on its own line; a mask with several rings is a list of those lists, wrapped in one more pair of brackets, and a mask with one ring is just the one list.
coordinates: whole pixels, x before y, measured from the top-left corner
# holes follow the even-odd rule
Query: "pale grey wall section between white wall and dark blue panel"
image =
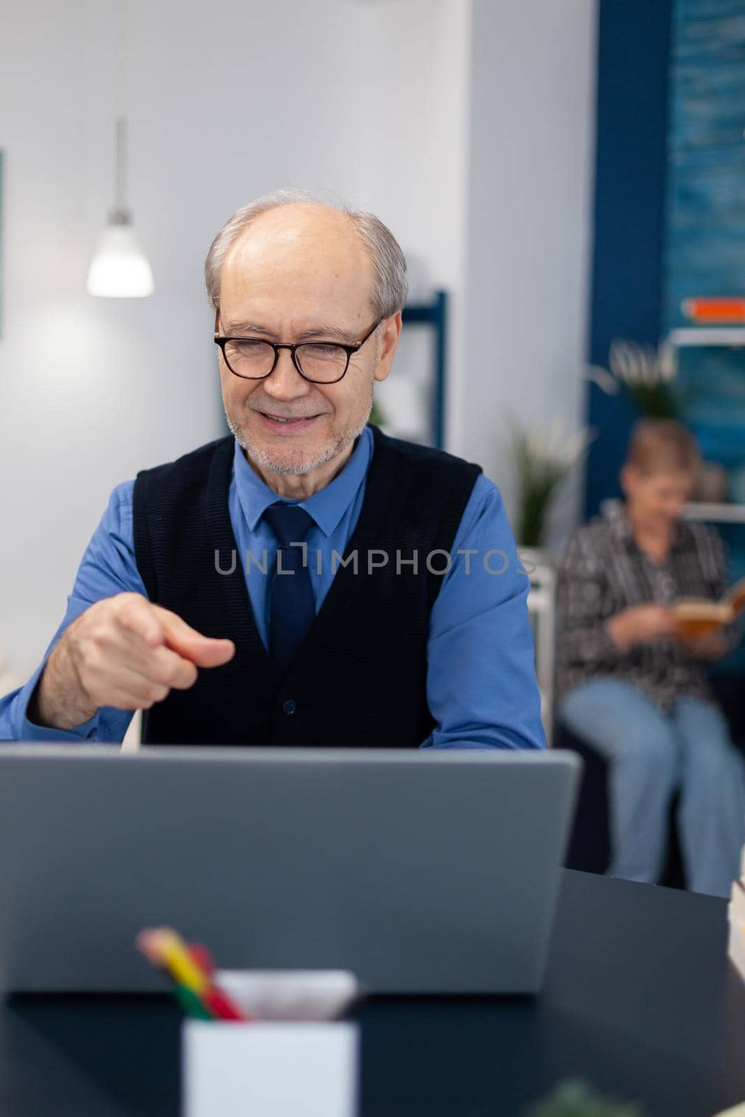
[(576, 429), (595, 0), (474, 0), (466, 374), (457, 445), (514, 506), (508, 420)]

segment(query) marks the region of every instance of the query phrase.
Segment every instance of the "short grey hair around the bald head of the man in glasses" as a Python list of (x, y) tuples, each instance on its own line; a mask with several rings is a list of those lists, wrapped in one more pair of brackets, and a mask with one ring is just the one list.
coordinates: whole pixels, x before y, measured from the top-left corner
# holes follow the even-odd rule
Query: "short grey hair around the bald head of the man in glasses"
[(408, 292), (407, 261), (398, 240), (380, 218), (365, 210), (353, 209), (334, 194), (314, 193), (311, 190), (274, 190), (236, 210), (210, 246), (204, 260), (204, 283), (216, 311), (220, 305), (220, 274), (228, 252), (257, 217), (281, 206), (325, 206), (337, 213), (345, 213), (372, 260), (375, 276), (373, 314), (376, 318), (388, 318), (403, 309)]

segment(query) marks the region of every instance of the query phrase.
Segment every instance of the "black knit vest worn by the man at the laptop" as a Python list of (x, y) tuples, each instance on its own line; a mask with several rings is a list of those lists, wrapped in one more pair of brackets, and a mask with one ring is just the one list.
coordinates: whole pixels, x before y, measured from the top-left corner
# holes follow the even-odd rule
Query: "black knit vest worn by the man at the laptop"
[[(236, 645), (229, 663), (200, 670), (191, 689), (171, 690), (147, 712), (143, 743), (416, 747), (428, 736), (427, 637), (441, 574), (427, 563), (446, 566), (433, 552), (450, 552), (480, 469), (372, 431), (360, 518), (284, 674), (256, 627), (230, 523), (233, 439), (137, 475), (134, 546), (150, 600)], [(369, 552), (381, 551), (386, 565), (375, 565), (378, 553), (369, 572)], [(414, 551), (417, 573), (405, 563)], [(220, 573), (233, 554), (232, 573)]]

